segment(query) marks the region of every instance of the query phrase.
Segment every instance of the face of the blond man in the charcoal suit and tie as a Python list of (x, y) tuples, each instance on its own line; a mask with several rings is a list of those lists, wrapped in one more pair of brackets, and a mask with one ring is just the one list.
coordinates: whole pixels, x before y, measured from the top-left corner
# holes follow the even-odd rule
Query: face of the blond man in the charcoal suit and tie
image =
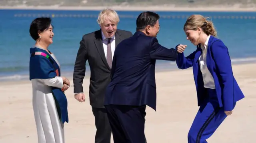
[(100, 24), (100, 28), (106, 38), (111, 38), (116, 33), (117, 22), (110, 21), (108, 18), (106, 18), (105, 21)]

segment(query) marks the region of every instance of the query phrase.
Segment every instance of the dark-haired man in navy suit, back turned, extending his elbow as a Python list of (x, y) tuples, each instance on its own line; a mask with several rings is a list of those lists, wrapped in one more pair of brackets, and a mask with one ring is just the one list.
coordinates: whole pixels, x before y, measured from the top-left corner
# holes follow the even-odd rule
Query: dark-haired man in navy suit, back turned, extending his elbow
[(156, 60), (175, 61), (176, 49), (158, 43), (159, 15), (142, 12), (136, 32), (116, 47), (105, 107), (114, 143), (145, 143), (146, 105), (156, 110)]

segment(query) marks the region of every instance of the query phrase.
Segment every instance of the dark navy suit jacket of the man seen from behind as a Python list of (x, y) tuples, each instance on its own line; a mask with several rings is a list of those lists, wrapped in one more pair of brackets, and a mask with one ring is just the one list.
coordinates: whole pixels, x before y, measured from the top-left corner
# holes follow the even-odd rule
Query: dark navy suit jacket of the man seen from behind
[(156, 110), (156, 59), (175, 61), (177, 56), (176, 49), (161, 46), (141, 31), (123, 40), (114, 52), (105, 105), (148, 105)]

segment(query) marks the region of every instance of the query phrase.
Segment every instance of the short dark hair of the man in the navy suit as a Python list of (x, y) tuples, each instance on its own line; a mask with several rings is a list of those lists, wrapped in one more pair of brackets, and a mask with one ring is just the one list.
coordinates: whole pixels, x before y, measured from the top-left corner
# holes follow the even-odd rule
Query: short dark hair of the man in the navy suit
[(159, 18), (155, 12), (142, 12), (136, 20), (136, 31), (145, 29), (147, 25), (154, 26)]

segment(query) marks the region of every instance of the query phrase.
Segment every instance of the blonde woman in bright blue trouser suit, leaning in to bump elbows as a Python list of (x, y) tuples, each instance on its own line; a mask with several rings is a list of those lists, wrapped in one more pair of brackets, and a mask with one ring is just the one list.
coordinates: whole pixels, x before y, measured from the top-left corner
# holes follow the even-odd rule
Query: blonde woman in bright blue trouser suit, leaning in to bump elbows
[(244, 98), (232, 72), (228, 48), (217, 39), (213, 23), (201, 15), (190, 16), (184, 24), (187, 39), (196, 51), (184, 57), (186, 45), (177, 45), (179, 69), (193, 67), (198, 113), (188, 133), (188, 143), (207, 143), (236, 102)]

